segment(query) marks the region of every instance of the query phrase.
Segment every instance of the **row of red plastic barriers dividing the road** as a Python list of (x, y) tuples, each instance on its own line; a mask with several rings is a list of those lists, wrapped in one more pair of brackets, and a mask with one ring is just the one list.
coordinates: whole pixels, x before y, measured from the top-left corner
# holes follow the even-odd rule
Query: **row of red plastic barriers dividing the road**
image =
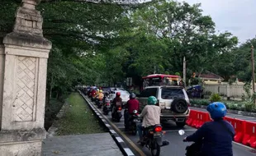
[[(256, 149), (256, 122), (247, 122), (233, 117), (225, 117), (225, 120), (235, 128), (235, 142)], [(211, 117), (208, 112), (191, 110), (187, 125), (200, 128), (205, 122), (210, 121)]]

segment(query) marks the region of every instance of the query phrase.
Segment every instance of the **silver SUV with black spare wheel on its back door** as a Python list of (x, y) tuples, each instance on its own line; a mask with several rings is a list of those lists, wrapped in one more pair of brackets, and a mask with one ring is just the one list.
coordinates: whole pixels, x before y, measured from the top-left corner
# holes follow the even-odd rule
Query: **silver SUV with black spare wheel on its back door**
[(158, 105), (161, 108), (161, 121), (173, 120), (176, 125), (183, 127), (186, 125), (189, 116), (189, 99), (187, 92), (181, 86), (149, 86), (146, 87), (140, 95), (137, 95), (140, 101), (140, 110), (147, 104), (149, 96), (158, 99)]

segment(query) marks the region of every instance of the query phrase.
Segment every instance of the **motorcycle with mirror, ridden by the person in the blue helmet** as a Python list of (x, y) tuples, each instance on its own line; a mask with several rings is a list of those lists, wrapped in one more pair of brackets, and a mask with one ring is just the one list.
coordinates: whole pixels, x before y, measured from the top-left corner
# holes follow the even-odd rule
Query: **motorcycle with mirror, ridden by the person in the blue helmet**
[[(186, 135), (185, 131), (183, 131), (183, 130), (178, 131), (178, 134), (179, 135)], [(187, 142), (187, 141), (184, 141), (184, 142)], [(201, 146), (202, 146), (202, 140), (198, 141), (198, 142), (195, 142), (192, 145), (188, 145), (186, 147), (186, 154), (185, 155), (186, 156), (198, 156), (200, 154), (200, 151), (201, 151)]]

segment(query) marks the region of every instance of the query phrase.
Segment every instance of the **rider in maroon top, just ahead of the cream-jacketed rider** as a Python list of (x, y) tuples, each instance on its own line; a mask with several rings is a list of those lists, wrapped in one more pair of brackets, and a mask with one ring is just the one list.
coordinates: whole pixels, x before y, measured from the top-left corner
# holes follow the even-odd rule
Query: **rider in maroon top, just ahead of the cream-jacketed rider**
[(128, 108), (128, 111), (126, 111), (126, 114), (125, 114), (125, 125), (127, 129), (129, 126), (128, 122), (129, 122), (130, 115), (133, 114), (134, 110), (139, 111), (139, 101), (136, 99), (136, 95), (134, 93), (130, 94), (130, 99), (126, 103), (126, 108)]

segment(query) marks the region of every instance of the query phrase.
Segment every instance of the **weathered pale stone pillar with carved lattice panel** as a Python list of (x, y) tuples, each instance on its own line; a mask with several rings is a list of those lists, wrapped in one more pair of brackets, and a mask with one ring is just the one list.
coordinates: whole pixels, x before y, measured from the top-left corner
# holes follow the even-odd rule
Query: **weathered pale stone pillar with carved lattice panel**
[(38, 0), (22, 0), (13, 32), (0, 45), (0, 155), (41, 155), (51, 43), (43, 37)]

